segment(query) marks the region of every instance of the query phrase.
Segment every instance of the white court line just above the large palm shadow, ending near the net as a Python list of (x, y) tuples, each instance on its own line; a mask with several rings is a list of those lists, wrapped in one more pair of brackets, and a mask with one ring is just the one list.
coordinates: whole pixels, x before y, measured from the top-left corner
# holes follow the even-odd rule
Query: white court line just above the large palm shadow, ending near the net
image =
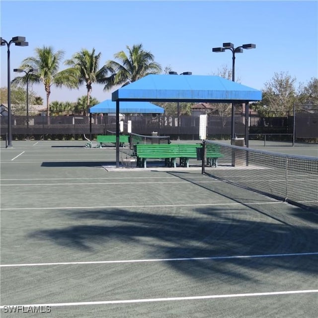
[(121, 209), (121, 208), (174, 208), (174, 207), (206, 207), (215, 205), (258, 205), (258, 204), (282, 204), (283, 201), (252, 202), (252, 203), (202, 203), (202, 204), (157, 204), (157, 205), (104, 205), (84, 207), (44, 207), (44, 208), (1, 208), (0, 211), (10, 210), (71, 210), (71, 209)]

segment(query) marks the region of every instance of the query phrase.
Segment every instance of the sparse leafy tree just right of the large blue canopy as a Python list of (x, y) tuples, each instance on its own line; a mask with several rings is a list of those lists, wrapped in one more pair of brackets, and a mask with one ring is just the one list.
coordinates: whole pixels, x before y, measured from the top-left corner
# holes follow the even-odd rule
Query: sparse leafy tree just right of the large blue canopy
[(293, 109), (297, 101), (295, 90), (296, 79), (288, 73), (275, 73), (274, 77), (265, 82), (262, 89), (262, 100), (253, 107), (262, 117), (283, 117)]

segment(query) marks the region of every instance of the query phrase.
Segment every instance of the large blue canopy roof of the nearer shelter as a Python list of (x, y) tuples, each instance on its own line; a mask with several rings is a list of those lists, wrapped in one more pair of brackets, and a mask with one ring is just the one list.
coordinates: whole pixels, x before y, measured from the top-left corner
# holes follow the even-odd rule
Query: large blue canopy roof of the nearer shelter
[(219, 76), (148, 75), (112, 93), (113, 101), (248, 102), (261, 100), (260, 90)]

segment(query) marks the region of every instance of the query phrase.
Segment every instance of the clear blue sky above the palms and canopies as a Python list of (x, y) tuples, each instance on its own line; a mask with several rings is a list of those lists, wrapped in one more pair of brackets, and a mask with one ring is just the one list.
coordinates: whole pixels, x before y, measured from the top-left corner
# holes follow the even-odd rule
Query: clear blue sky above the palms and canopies
[[(256, 49), (236, 54), (239, 82), (263, 89), (275, 73), (284, 72), (296, 85), (318, 77), (318, 1), (15, 1), (0, 0), (0, 34), (9, 41), (25, 36), (28, 47), (10, 46), (10, 77), (35, 48), (52, 46), (70, 59), (82, 48), (101, 52), (100, 67), (126, 47), (142, 43), (162, 69), (177, 73), (214, 75), (232, 69), (232, 53), (213, 53), (231, 42)], [(0, 87), (7, 87), (7, 48), (0, 48)], [(63, 64), (60, 70), (66, 68)], [(297, 88), (296, 87), (296, 88)], [(30, 87), (45, 101), (43, 84)], [(92, 97), (111, 99), (112, 91), (93, 84)], [(75, 102), (86, 95), (79, 89), (52, 87), (50, 101)], [(45, 102), (44, 102), (45, 103)]]

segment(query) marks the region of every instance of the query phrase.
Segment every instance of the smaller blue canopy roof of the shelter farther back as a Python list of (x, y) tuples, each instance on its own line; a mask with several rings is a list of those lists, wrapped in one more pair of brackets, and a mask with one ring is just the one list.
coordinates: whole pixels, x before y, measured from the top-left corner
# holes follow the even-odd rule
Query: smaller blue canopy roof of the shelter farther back
[[(116, 113), (116, 102), (106, 99), (89, 108), (90, 113), (113, 114)], [(145, 101), (124, 101), (119, 105), (121, 114), (163, 114), (164, 109)]]

